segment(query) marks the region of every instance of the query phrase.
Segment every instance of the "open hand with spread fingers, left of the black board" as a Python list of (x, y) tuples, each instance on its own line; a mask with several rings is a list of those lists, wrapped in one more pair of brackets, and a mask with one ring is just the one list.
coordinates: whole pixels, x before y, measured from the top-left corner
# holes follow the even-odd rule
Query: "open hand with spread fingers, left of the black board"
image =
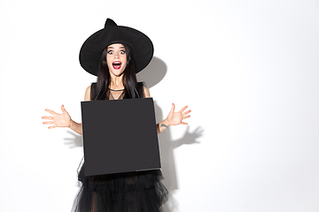
[(58, 114), (52, 110), (46, 109), (45, 111), (50, 112), (53, 117), (42, 117), (42, 119), (50, 120), (43, 122), (43, 125), (50, 125), (48, 129), (53, 129), (56, 127), (69, 127), (71, 125), (72, 119), (68, 112), (66, 112), (64, 105), (61, 106), (61, 110), (62, 114)]

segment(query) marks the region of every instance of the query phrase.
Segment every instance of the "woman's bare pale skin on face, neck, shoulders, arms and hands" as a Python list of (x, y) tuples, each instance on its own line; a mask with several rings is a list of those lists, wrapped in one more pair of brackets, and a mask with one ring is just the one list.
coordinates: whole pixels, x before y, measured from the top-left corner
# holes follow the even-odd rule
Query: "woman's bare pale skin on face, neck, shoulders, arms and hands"
[[(111, 75), (111, 89), (113, 90), (121, 90), (124, 89), (124, 85), (122, 83), (123, 72), (126, 68), (127, 56), (125, 52), (125, 48), (121, 43), (115, 43), (107, 47), (106, 54), (107, 66), (109, 68), (109, 72)], [(114, 66), (113, 63), (121, 64)], [(151, 97), (149, 90), (144, 87), (145, 98)], [(86, 88), (84, 101), (90, 101), (90, 86)], [(172, 109), (168, 113), (167, 118), (157, 124), (157, 133), (161, 133), (167, 129), (170, 125), (188, 125), (188, 123), (183, 120), (191, 117), (188, 115), (191, 110), (186, 110), (188, 106), (183, 107), (178, 112), (175, 112), (175, 104), (172, 104)], [(48, 129), (54, 129), (56, 127), (69, 127), (75, 133), (79, 133), (82, 135), (82, 123), (76, 123), (68, 112), (66, 111), (64, 105), (61, 106), (62, 113), (56, 113), (52, 110), (46, 109), (45, 111), (51, 113), (49, 117), (42, 117), (47, 120), (43, 122), (43, 125), (50, 125)], [(185, 111), (186, 110), (186, 111)]]

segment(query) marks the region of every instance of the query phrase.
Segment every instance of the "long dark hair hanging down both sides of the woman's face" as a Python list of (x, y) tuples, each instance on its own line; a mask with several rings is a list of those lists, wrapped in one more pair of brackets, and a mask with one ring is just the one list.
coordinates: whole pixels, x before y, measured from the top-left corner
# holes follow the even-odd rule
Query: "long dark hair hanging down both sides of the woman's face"
[[(140, 98), (138, 94), (137, 80), (136, 80), (136, 64), (132, 49), (122, 44), (125, 48), (127, 55), (127, 65), (123, 74), (123, 86), (124, 86), (124, 99)], [(97, 72), (97, 85), (95, 92), (91, 93), (91, 100), (107, 100), (110, 96), (109, 87), (111, 84), (111, 75), (106, 63), (107, 47), (103, 50), (101, 55), (101, 62), (99, 64), (99, 70)]]

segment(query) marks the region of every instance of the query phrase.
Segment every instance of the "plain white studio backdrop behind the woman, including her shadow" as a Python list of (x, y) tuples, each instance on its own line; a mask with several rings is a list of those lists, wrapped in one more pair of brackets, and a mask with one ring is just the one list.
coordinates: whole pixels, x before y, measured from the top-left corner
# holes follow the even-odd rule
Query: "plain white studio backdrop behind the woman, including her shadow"
[(78, 54), (106, 18), (152, 39), (158, 121), (192, 110), (159, 135), (165, 211), (319, 211), (318, 0), (1, 0), (0, 211), (70, 211), (82, 137), (41, 117), (81, 122)]

